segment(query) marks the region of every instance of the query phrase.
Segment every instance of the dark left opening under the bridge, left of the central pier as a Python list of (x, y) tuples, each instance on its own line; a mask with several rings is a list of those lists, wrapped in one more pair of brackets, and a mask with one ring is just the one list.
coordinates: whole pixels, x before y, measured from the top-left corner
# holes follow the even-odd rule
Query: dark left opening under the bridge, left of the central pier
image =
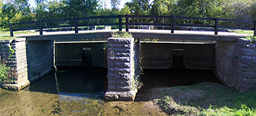
[(55, 42), (57, 82), (63, 93), (100, 93), (106, 89), (105, 41)]

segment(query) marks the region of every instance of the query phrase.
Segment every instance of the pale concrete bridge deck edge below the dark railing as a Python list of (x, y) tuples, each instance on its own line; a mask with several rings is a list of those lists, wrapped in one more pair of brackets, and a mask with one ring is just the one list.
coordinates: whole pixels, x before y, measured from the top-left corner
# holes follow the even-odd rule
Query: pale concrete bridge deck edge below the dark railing
[[(99, 30), (99, 31), (79, 31), (75, 34), (74, 31), (59, 31), (59, 32), (44, 32), (44, 35), (39, 33), (20, 35), (27, 40), (50, 40), (50, 39), (107, 39), (111, 37), (111, 33), (117, 30)], [(172, 34), (167, 30), (139, 30), (130, 29), (134, 38), (139, 39), (186, 39), (186, 40), (218, 40), (218, 41), (236, 41), (237, 38), (242, 38), (249, 35), (236, 34), (230, 32), (219, 32), (214, 35), (214, 31), (174, 31)]]

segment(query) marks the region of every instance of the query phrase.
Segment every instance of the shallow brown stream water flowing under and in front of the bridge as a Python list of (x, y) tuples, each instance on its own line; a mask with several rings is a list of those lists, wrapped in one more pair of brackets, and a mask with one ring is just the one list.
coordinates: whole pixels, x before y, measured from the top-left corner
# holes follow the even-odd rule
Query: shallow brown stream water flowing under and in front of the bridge
[(104, 102), (106, 77), (106, 68), (57, 68), (18, 92), (0, 89), (0, 116), (167, 115), (154, 104), (151, 89), (218, 82), (211, 70), (145, 69), (135, 102)]

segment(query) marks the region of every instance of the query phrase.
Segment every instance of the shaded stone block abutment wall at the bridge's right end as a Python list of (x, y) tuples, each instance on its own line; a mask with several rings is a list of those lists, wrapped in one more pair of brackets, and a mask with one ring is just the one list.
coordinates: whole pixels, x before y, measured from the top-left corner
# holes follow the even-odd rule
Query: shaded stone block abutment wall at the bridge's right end
[(256, 85), (256, 43), (248, 39), (216, 42), (216, 76), (225, 85), (245, 92)]

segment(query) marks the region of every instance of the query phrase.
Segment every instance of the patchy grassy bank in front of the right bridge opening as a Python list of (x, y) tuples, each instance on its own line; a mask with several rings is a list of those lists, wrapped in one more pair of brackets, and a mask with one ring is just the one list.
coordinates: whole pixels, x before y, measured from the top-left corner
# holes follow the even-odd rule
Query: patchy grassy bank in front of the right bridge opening
[(256, 87), (239, 93), (224, 85), (202, 83), (162, 90), (157, 102), (167, 114), (256, 116)]

